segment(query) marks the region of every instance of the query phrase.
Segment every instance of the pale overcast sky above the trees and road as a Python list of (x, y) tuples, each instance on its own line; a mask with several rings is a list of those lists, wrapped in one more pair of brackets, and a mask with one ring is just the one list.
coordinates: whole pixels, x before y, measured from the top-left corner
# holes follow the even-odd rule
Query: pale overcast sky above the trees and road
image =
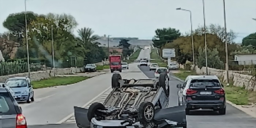
[[(181, 33), (190, 31), (189, 12), (193, 29), (203, 25), (202, 0), (27, 0), (27, 11), (37, 14), (71, 14), (76, 28), (92, 28), (97, 35), (152, 39), (157, 28), (172, 27)], [(0, 33), (8, 31), (2, 25), (9, 14), (25, 11), (24, 0), (0, 0)], [(205, 0), (206, 25), (224, 26), (223, 0)], [(242, 37), (256, 32), (256, 0), (226, 0), (227, 30)], [(76, 33), (74, 30), (74, 34)]]

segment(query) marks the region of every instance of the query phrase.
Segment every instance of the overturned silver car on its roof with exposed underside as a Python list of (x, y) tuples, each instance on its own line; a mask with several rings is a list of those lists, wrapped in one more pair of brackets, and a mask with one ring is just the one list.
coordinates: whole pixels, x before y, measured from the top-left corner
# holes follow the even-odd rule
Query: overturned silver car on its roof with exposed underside
[(79, 128), (187, 128), (185, 106), (168, 108), (166, 73), (159, 79), (138, 80), (113, 74), (112, 88), (103, 103), (74, 107)]

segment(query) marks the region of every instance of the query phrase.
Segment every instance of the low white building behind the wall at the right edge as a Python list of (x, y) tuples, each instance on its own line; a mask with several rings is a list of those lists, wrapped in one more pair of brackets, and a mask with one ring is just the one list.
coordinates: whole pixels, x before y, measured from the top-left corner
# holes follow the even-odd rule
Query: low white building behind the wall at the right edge
[(238, 65), (256, 64), (256, 54), (236, 54), (234, 61), (237, 61)]

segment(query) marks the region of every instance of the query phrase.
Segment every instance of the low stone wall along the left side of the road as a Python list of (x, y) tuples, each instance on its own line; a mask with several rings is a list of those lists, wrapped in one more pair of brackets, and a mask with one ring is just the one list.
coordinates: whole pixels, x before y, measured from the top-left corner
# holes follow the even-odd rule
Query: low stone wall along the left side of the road
[[(37, 72), (30, 72), (30, 79), (32, 81), (37, 81), (41, 79), (47, 79), (55, 75), (64, 75), (64, 74), (74, 74), (77, 72), (82, 72), (83, 68), (55, 68), (52, 70), (46, 70), (46, 71), (37, 71)], [(12, 75), (6, 75), (6, 76), (0, 76), (0, 82), (5, 82), (7, 79), (17, 76), (28, 76), (28, 73), (20, 73), (20, 74), (12, 74)]]

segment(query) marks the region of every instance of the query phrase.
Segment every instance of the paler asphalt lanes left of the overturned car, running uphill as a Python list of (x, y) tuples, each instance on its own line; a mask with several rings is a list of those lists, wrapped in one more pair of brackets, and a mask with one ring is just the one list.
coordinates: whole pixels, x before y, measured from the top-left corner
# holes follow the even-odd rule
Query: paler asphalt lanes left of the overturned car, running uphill
[[(149, 58), (150, 52), (150, 49), (141, 50), (139, 57)], [(147, 78), (138, 68), (138, 64), (129, 64), (129, 70), (120, 73), (122, 78)], [(74, 124), (61, 123), (73, 116), (74, 106), (82, 107), (103, 91), (110, 89), (112, 74), (109, 72), (68, 86), (34, 90), (34, 102), (19, 104), (26, 117), (27, 125), (29, 128), (69, 128), (75, 126)]]

